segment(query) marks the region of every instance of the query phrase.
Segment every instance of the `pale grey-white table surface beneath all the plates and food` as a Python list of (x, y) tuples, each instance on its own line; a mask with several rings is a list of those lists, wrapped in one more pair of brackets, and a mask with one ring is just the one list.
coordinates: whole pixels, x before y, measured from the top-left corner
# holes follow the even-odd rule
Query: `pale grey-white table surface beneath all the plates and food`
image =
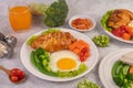
[[(76, 88), (76, 84), (82, 78), (88, 78), (89, 80), (92, 80), (101, 86), (101, 88), (104, 88), (102, 86), (102, 82), (99, 78), (99, 64), (100, 61), (110, 52), (113, 52), (119, 48), (132, 48), (132, 44), (122, 43), (120, 41), (116, 41), (112, 37), (111, 43), (109, 47), (98, 47), (100, 57), (99, 63), (95, 66), (95, 68), (89, 73), (88, 75), (83, 76), (82, 78), (66, 81), (66, 82), (53, 82), (40, 79), (35, 76), (33, 76), (31, 73), (29, 73), (22, 65), (20, 61), (20, 50), (23, 44), (23, 42), (33, 33), (41, 31), (41, 29), (47, 29), (47, 26), (41, 22), (40, 19), (33, 19), (32, 20), (32, 28), (30, 31), (16, 33), (12, 31), (9, 20), (8, 20), (8, 6), (18, 2), (43, 2), (47, 4), (50, 4), (54, 0), (0, 0), (0, 32), (3, 32), (6, 35), (11, 34), (14, 35), (18, 38), (18, 43), (16, 46), (16, 53), (12, 58), (1, 58), (0, 65), (3, 65), (8, 68), (19, 67), (20, 69), (24, 70), (28, 78), (23, 84), (14, 85), (10, 82), (7, 75), (3, 72), (0, 72), (0, 88)], [(66, 22), (61, 28), (70, 29), (68, 24), (68, 20), (75, 14), (90, 14), (93, 16), (96, 21), (96, 26), (93, 31), (84, 33), (90, 38), (92, 38), (94, 35), (98, 34), (105, 34), (108, 35), (100, 25), (101, 16), (108, 11), (112, 9), (119, 9), (119, 8), (125, 8), (133, 11), (133, 1), (132, 0), (66, 0), (69, 4), (69, 14), (66, 18)], [(39, 29), (41, 28), (41, 29)]]

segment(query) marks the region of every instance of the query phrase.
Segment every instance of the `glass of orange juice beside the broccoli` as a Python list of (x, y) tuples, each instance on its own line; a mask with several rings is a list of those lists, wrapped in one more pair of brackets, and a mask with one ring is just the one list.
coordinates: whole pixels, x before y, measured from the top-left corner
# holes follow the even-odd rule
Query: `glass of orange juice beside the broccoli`
[(9, 7), (9, 21), (16, 32), (30, 30), (31, 11), (27, 4), (13, 4)]

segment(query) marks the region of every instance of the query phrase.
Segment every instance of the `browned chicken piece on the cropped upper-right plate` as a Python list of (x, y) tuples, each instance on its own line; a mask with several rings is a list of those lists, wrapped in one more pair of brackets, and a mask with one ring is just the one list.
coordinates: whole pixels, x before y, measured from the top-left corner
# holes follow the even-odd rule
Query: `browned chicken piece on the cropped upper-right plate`
[(133, 13), (125, 9), (114, 10), (109, 18), (109, 26), (117, 29), (127, 25), (133, 20)]

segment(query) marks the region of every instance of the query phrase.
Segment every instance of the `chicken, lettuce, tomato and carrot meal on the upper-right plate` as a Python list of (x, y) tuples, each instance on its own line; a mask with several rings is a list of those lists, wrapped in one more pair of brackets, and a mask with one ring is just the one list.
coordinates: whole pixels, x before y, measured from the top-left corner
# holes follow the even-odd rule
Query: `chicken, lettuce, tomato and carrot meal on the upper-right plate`
[(126, 9), (108, 11), (102, 20), (102, 26), (113, 35), (131, 41), (133, 37), (133, 12)]

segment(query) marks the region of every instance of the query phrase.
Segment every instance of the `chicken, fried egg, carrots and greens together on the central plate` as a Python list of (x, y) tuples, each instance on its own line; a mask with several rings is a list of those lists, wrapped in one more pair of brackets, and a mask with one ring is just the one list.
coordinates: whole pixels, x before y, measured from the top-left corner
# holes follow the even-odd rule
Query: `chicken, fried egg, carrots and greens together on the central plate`
[(32, 65), (45, 75), (74, 77), (88, 70), (90, 45), (70, 32), (49, 29), (31, 36), (27, 44), (32, 48)]

